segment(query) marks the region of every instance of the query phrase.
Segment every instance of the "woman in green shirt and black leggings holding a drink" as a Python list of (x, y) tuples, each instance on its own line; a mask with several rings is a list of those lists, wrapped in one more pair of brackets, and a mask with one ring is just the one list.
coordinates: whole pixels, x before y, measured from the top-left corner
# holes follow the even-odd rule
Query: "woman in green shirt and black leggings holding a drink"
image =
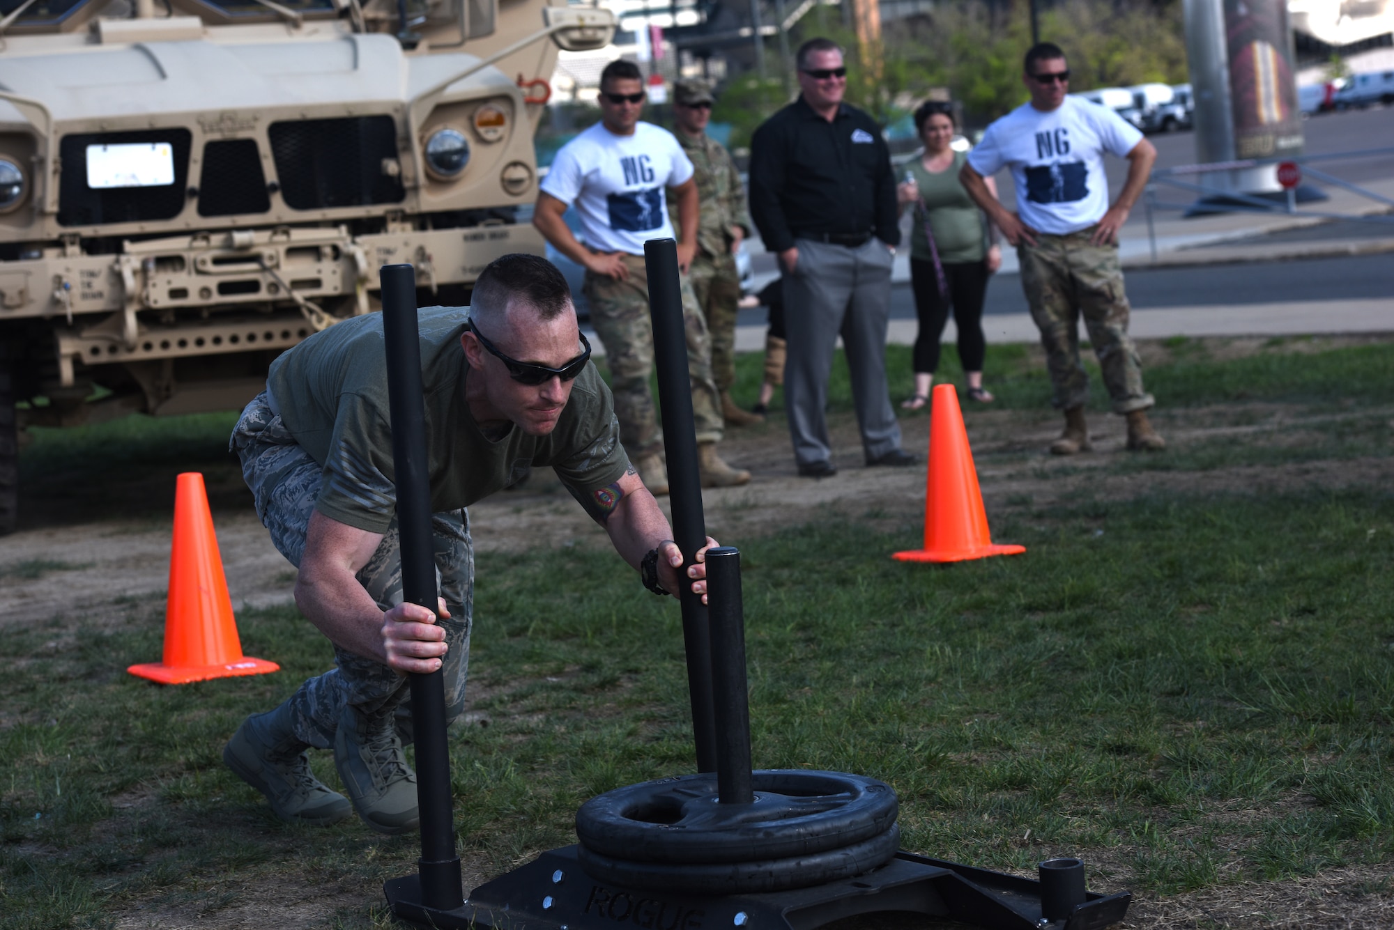
[[(983, 299), (987, 278), (1002, 265), (1002, 251), (958, 174), (965, 155), (949, 148), (953, 111), (948, 103), (928, 100), (914, 111), (914, 128), (924, 141), (924, 155), (910, 161), (898, 189), (902, 209), (914, 206), (910, 231), (910, 287), (920, 333), (914, 340), (914, 394), (901, 407), (917, 411), (930, 400), (930, 386), (940, 363), (940, 337), (949, 306), (958, 324), (959, 359), (967, 377), (967, 395), (991, 401), (983, 388)], [(997, 196), (993, 178), (987, 187)]]

